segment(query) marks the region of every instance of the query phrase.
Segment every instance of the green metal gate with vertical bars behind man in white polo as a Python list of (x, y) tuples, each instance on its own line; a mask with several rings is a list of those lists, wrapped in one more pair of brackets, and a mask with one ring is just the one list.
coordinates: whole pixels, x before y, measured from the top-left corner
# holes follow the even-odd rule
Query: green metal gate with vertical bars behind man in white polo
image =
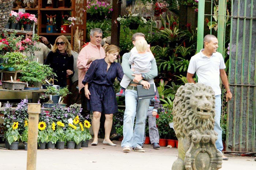
[[(204, 12), (206, 3), (211, 4), (209, 14)], [(217, 15), (218, 51), (225, 56), (228, 40), (230, 45), (228, 79), (233, 99), (227, 105), (226, 151), (256, 152), (256, 0), (229, 0), (229, 5), (227, 0), (199, 0), (197, 51), (203, 48), (200, 23), (206, 16), (212, 22)]]

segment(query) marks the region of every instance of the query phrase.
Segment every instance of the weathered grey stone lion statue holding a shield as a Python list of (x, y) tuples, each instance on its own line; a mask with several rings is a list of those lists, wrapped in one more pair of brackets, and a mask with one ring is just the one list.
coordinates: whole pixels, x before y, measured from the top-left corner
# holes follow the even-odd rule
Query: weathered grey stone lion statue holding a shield
[(215, 95), (210, 86), (187, 83), (173, 101), (173, 125), (178, 138), (178, 159), (173, 170), (220, 169), (222, 153), (215, 146)]

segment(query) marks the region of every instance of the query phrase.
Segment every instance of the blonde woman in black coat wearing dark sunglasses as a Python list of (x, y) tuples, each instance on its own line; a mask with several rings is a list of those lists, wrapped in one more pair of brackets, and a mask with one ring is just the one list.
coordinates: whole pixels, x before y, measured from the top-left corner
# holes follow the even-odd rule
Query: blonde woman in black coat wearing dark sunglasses
[(58, 36), (44, 63), (50, 65), (53, 72), (57, 74), (57, 81), (54, 79), (54, 85), (65, 87), (67, 76), (71, 78), (74, 75), (74, 58), (71, 51), (68, 39), (64, 35)]

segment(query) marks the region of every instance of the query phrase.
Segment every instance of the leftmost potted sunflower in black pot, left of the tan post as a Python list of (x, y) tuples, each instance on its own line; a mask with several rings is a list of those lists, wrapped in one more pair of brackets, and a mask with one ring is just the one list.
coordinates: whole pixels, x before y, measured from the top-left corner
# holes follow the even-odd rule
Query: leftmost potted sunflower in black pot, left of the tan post
[(5, 138), (10, 146), (10, 150), (18, 150), (20, 134), (18, 131), (19, 122), (16, 121), (5, 132)]

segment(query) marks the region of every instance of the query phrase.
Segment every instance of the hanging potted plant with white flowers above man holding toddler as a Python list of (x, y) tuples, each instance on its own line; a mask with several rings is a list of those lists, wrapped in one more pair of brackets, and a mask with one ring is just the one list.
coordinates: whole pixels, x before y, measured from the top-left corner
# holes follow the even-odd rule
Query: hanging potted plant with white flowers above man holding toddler
[(143, 27), (150, 23), (143, 16), (139, 16), (139, 13), (129, 13), (128, 15), (119, 16), (117, 21), (124, 26), (128, 26), (130, 30), (137, 30), (139, 25)]

